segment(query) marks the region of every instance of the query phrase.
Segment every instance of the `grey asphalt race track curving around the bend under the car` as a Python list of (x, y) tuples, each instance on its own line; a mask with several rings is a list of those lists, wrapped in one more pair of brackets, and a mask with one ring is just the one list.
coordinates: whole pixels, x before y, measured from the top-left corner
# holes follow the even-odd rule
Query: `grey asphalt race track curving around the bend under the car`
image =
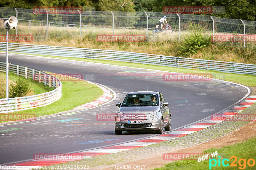
[[(5, 53), (0, 53), (0, 60), (5, 61)], [(164, 81), (162, 74), (166, 72), (132, 67), (18, 54), (9, 54), (9, 62), (58, 74), (83, 74), (83, 79), (113, 89), (117, 97), (76, 114), (0, 126), (1, 165), (33, 159), (35, 153), (85, 151), (156, 135), (155, 132), (116, 135), (114, 121), (96, 119), (99, 113), (116, 113), (116, 102), (122, 102), (128, 92), (145, 91), (147, 85), (149, 91), (162, 92), (170, 103), (172, 129), (227, 109), (248, 92), (245, 87), (220, 80)], [(13, 130), (3, 131), (7, 129)]]

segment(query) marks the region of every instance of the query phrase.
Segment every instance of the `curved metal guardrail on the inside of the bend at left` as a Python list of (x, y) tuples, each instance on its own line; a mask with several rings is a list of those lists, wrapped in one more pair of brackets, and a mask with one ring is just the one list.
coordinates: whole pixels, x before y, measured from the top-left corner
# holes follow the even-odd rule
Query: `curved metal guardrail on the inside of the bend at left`
[[(0, 61), (0, 71), (5, 71), (6, 63)], [(9, 99), (0, 99), (0, 113), (8, 113), (13, 111), (27, 110), (35, 107), (41, 107), (51, 104), (61, 97), (61, 81), (54, 76), (44, 73), (42, 71), (20, 66), (16, 64), (9, 64), (10, 72), (13, 72), (26, 78), (32, 78), (33, 80), (43, 82), (45, 86), (55, 87), (54, 90), (26, 97), (15, 97)]]

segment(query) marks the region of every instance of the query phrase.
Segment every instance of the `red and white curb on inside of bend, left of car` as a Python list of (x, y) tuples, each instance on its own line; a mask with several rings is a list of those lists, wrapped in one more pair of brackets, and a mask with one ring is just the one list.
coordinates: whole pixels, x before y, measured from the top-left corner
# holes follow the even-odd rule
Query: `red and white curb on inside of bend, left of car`
[(76, 109), (89, 109), (89, 108), (92, 108), (92, 107), (95, 107), (95, 106), (99, 106), (103, 103), (108, 102), (113, 97), (113, 94), (107, 88), (105, 88), (103, 86), (100, 86), (98, 84), (95, 84), (91, 81), (87, 81), (87, 82), (99, 87), (101, 90), (104, 91), (104, 94), (100, 98), (98, 98), (98, 99), (96, 99), (92, 102), (85, 103), (85, 104), (82, 104), (81, 106), (76, 107)]

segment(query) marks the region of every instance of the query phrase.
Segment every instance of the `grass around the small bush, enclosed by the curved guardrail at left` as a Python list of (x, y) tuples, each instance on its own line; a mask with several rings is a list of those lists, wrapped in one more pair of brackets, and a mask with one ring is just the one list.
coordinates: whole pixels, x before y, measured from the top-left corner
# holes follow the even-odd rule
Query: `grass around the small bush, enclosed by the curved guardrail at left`
[[(1, 88), (1, 95), (0, 98), (5, 98), (5, 73), (0, 72), (0, 77), (3, 82), (0, 82), (1, 86), (4, 87), (3, 90)], [(9, 80), (11, 81), (18, 81), (21, 76), (17, 76), (16, 74), (13, 74), (12, 72), (9, 72)], [(48, 91), (53, 90), (53, 88), (50, 88), (49, 86), (44, 86), (43, 83), (39, 83), (37, 81), (33, 81), (32, 79), (27, 79), (28, 85), (31, 86), (33, 94), (31, 95), (37, 95), (41, 93), (45, 93)], [(10, 88), (10, 83), (9, 83)]]

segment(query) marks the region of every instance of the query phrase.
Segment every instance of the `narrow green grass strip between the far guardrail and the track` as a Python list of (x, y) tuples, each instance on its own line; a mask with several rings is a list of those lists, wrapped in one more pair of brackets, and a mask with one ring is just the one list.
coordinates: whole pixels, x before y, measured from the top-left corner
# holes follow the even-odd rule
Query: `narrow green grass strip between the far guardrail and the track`
[(250, 86), (250, 87), (256, 86), (256, 76), (255, 75), (222, 73), (222, 72), (209, 71), (209, 70), (175, 68), (175, 67), (156, 66), (156, 65), (150, 65), (150, 64), (139, 64), (139, 63), (130, 63), (130, 62), (122, 62), (122, 61), (81, 59), (81, 58), (57, 57), (57, 56), (49, 56), (49, 55), (38, 55), (38, 56), (53, 57), (53, 58), (68, 59), (68, 60), (77, 60), (77, 61), (87, 61), (87, 62), (95, 62), (95, 63), (103, 63), (103, 64), (112, 64), (112, 65), (128, 66), (128, 67), (137, 67), (137, 68), (147, 68), (147, 69), (155, 69), (155, 70), (178, 72), (178, 73), (188, 73), (188, 74), (207, 73), (207, 74), (212, 74), (213, 78), (215, 78), (215, 75), (216, 76), (224, 75), (224, 79), (221, 79), (221, 80), (244, 84), (244, 85)]

